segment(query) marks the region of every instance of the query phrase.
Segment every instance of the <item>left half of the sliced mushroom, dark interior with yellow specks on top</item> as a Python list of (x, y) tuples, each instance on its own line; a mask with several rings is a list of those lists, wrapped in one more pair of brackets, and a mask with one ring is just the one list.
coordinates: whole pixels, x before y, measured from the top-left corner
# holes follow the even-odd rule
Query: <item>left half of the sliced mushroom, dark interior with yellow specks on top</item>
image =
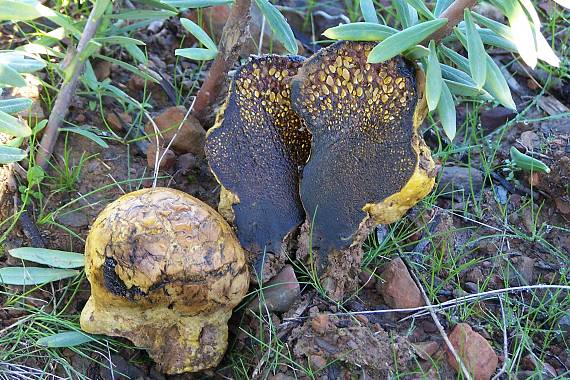
[[(206, 156), (222, 185), (219, 211), (264, 278), (281, 269), (287, 240), (305, 220), (299, 168), (310, 134), (291, 108), (289, 86), (303, 60), (267, 55), (241, 66), (206, 137)], [(283, 262), (261, 270), (270, 256)]]

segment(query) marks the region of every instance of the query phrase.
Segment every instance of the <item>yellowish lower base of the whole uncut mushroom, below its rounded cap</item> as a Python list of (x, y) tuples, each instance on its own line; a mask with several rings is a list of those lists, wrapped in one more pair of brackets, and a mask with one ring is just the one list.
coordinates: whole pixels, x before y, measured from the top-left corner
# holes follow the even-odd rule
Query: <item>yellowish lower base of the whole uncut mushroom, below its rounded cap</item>
[(146, 348), (166, 374), (197, 372), (217, 366), (227, 348), (231, 310), (187, 315), (167, 307), (133, 312), (112, 310), (91, 297), (81, 313), (81, 328), (88, 333), (129, 339)]

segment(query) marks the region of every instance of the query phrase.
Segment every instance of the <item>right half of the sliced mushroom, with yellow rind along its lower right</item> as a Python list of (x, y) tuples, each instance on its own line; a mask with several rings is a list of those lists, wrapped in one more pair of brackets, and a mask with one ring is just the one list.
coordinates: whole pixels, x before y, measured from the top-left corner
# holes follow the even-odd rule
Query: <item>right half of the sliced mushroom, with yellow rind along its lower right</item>
[(324, 255), (360, 244), (375, 224), (400, 219), (435, 182), (417, 131), (426, 114), (424, 78), (402, 57), (367, 63), (374, 46), (337, 42), (292, 80), (293, 109), (313, 138), (301, 200), (314, 220), (313, 247)]

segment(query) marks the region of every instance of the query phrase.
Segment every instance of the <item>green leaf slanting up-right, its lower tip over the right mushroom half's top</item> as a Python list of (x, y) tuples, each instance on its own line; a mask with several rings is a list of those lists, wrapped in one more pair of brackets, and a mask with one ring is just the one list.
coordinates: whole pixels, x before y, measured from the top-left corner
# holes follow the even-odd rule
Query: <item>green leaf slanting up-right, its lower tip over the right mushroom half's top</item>
[(393, 34), (372, 49), (368, 55), (368, 62), (380, 63), (387, 61), (404, 50), (419, 44), (445, 24), (447, 24), (447, 19), (426, 21)]

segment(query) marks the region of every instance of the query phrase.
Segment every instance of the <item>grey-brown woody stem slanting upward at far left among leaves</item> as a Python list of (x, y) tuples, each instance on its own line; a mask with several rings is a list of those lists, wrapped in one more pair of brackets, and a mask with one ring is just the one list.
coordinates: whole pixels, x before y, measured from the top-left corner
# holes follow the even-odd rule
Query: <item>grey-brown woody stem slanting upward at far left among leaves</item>
[[(85, 50), (87, 43), (93, 38), (95, 32), (99, 28), (101, 23), (101, 17), (96, 18), (95, 10), (97, 7), (93, 6), (83, 33), (81, 34), (81, 39), (77, 44), (77, 51), (73, 54), (72, 59), (69, 62), (73, 62), (74, 59), (79, 57), (79, 55)], [(63, 124), (63, 120), (69, 112), (69, 103), (75, 95), (75, 90), (79, 84), (79, 75), (83, 71), (83, 63), (79, 62), (73, 67), (73, 72), (71, 73), (71, 79), (64, 82), (61, 87), (61, 91), (55, 100), (53, 109), (49, 115), (48, 124), (44, 131), (44, 136), (38, 147), (38, 152), (36, 154), (36, 164), (40, 165), (43, 169), (46, 169), (49, 159), (53, 153), (53, 148), (57, 142), (57, 136), (59, 135), (59, 128)]]

